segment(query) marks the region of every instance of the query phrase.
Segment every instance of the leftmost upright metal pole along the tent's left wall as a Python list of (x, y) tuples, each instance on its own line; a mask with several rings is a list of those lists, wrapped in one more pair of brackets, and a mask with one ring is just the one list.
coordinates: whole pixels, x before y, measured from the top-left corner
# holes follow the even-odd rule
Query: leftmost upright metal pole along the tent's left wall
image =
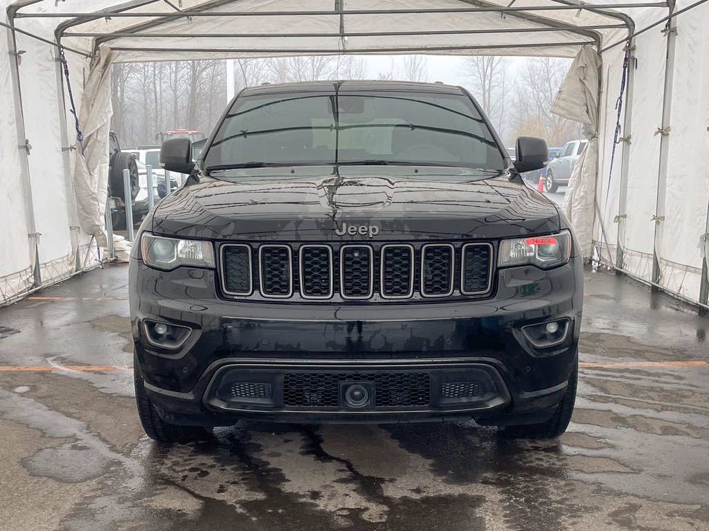
[[(42, 287), (42, 270), (40, 268), (39, 236), (37, 220), (35, 217), (35, 203), (32, 196), (32, 181), (30, 179), (30, 148), (27, 141), (25, 127), (25, 113), (22, 105), (22, 86), (20, 81), (20, 55), (17, 52), (17, 35), (14, 31), (7, 32), (9, 53), (13, 56), (14, 65), (10, 67), (10, 76), (13, 89), (13, 103), (15, 107), (15, 127), (17, 131), (18, 149), (20, 154), (20, 171), (22, 172), (22, 189), (25, 202), (25, 217), (28, 237), (30, 238), (30, 251), (34, 255), (33, 288)], [(32, 249), (34, 247), (34, 249)]]

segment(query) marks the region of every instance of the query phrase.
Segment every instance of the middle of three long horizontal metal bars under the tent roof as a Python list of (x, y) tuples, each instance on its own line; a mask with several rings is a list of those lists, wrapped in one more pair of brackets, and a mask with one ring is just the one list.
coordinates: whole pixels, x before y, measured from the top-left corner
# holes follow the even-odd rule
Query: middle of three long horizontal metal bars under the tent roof
[[(431, 31), (374, 31), (374, 32), (354, 32), (354, 33), (64, 33), (62, 37), (106, 37), (111, 35), (111, 39), (122, 37), (141, 38), (179, 38), (179, 37), (199, 37), (199, 38), (309, 38), (309, 37), (398, 37), (412, 35), (493, 35), (499, 33), (548, 33), (554, 31), (576, 30), (613, 30), (625, 28), (625, 24), (596, 24), (579, 26), (559, 26), (558, 28), (500, 28), (492, 30), (431, 30)], [(105, 42), (105, 40), (104, 40)]]

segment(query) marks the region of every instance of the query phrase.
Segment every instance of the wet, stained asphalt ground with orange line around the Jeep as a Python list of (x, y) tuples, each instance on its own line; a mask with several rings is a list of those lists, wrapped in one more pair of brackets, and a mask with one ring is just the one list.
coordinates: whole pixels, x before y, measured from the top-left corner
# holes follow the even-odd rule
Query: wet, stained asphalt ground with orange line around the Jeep
[(168, 448), (135, 412), (126, 276), (0, 309), (3, 531), (709, 530), (709, 319), (632, 280), (586, 272), (559, 440), (240, 423)]

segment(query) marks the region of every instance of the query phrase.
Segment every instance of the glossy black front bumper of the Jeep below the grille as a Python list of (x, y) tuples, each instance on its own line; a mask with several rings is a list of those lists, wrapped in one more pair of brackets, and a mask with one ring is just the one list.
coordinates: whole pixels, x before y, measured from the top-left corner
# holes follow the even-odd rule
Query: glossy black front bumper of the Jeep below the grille
[[(163, 273), (134, 260), (130, 310), (136, 370), (143, 373), (160, 415), (178, 424), (220, 426), (239, 418), (308, 423), (474, 418), (498, 426), (540, 422), (554, 412), (577, 362), (582, 278), (581, 260), (572, 258), (549, 271), (498, 270), (491, 299), (336, 307), (225, 301), (216, 295), (212, 271)], [(191, 333), (180, 348), (162, 348), (149, 341), (146, 319), (188, 326)], [(536, 348), (521, 331), (557, 319), (568, 319), (569, 333), (551, 348)], [(305, 372), (345, 375), (345, 382), (415, 372), (425, 374), (430, 396), (425, 404), (372, 402), (357, 411), (341, 400), (323, 407), (312, 396), (310, 402), (289, 405), (284, 378)], [(225, 399), (225, 375), (269, 384), (272, 395), (252, 402)], [(442, 399), (441, 382), (470, 380), (486, 382), (475, 399)], [(402, 393), (396, 396), (408, 396)]]

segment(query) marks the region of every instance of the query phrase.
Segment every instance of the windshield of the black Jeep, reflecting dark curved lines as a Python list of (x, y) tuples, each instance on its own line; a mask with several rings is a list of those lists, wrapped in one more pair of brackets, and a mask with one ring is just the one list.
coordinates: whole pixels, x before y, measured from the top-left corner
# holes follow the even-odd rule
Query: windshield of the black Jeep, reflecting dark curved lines
[(205, 156), (208, 171), (304, 164), (504, 169), (467, 96), (376, 91), (238, 98)]

